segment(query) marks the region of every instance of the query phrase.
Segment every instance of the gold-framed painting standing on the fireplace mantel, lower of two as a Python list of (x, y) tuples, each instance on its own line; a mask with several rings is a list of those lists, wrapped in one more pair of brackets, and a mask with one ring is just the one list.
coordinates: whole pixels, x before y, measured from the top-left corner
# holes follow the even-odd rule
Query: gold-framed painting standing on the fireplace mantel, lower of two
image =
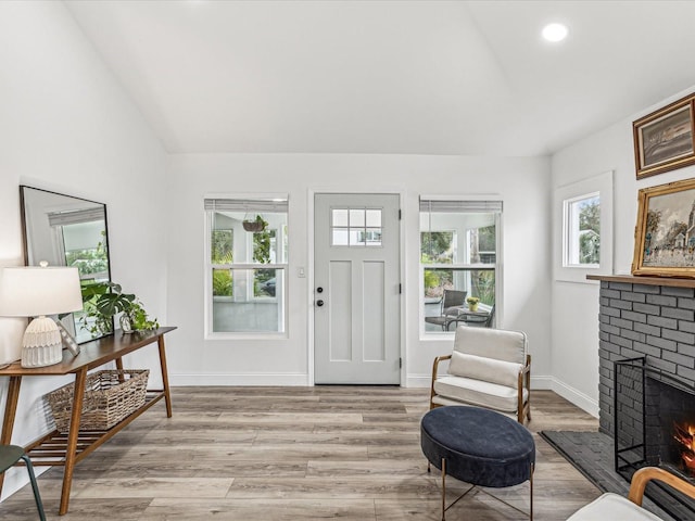
[(695, 179), (640, 190), (632, 275), (695, 277)]

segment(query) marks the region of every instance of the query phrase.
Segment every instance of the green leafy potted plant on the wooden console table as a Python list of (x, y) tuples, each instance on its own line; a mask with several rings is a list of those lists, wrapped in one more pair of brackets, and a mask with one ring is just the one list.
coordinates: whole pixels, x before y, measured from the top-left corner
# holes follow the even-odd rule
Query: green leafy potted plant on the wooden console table
[(113, 332), (113, 318), (121, 313), (119, 325), (124, 333), (149, 331), (160, 327), (148, 317), (140, 300), (131, 293), (123, 293), (121, 284), (101, 282), (83, 288), (85, 315), (81, 327), (92, 334)]

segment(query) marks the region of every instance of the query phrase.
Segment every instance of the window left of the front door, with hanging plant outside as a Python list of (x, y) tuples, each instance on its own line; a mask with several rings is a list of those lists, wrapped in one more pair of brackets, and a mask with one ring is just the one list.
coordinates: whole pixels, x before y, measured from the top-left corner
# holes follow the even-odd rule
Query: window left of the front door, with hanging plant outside
[(288, 201), (206, 199), (206, 331), (286, 331)]

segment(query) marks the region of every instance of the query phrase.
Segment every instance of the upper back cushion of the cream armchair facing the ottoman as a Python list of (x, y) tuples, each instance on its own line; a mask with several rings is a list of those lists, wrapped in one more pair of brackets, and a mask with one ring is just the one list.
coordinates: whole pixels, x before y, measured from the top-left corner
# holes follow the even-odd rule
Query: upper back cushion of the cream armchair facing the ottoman
[(498, 360), (523, 364), (527, 338), (521, 331), (490, 328), (456, 328), (454, 351)]

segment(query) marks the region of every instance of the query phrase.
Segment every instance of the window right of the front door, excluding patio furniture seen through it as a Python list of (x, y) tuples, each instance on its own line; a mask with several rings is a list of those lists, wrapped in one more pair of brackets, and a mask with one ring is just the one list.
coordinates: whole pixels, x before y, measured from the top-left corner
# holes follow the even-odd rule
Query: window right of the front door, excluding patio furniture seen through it
[(420, 320), (426, 333), (444, 332), (425, 321), (442, 313), (444, 290), (480, 298), (483, 312), (495, 306), (501, 215), (501, 202), (420, 201)]

